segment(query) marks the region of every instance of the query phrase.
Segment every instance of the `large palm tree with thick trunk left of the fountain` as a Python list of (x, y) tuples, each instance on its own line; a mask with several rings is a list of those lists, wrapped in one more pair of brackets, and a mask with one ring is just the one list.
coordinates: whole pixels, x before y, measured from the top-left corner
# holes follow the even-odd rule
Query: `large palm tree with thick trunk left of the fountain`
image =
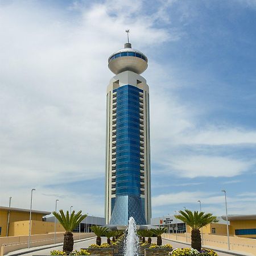
[(73, 239), (73, 229), (75, 229), (84, 218), (86, 218), (86, 214), (82, 215), (82, 211), (80, 210), (75, 214), (75, 210), (69, 215), (67, 210), (67, 214), (65, 215), (63, 210), (60, 210), (60, 213), (53, 212), (52, 213), (60, 224), (65, 229), (64, 241), (63, 241), (63, 251), (66, 253), (70, 253), (73, 251), (74, 247), (74, 239)]

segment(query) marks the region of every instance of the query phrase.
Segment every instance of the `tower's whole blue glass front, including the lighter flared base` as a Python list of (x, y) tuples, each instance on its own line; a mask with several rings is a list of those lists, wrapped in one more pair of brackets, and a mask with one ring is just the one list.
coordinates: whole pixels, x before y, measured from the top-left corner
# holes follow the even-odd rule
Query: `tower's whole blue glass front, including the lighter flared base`
[(140, 108), (143, 90), (123, 85), (117, 92), (115, 200), (110, 224), (126, 225), (133, 216), (146, 224), (141, 198)]

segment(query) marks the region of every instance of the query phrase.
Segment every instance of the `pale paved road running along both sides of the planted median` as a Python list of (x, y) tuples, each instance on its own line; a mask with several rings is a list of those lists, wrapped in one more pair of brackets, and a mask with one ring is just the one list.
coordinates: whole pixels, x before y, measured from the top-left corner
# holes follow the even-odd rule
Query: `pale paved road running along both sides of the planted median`
[[(106, 238), (105, 237), (102, 237), (102, 243), (103, 242), (106, 242)], [(152, 242), (153, 243), (156, 243), (156, 238), (152, 238)], [(86, 240), (86, 241), (80, 241), (80, 242), (76, 242), (74, 244), (74, 250), (80, 250), (81, 248), (86, 248), (88, 247), (89, 245), (91, 245), (92, 243), (96, 243), (96, 238), (91, 238), (89, 240)], [(189, 245), (186, 245), (184, 243), (179, 243), (179, 242), (175, 242), (175, 241), (170, 241), (170, 240), (166, 240), (166, 239), (163, 239), (163, 245), (165, 245), (166, 243), (170, 243), (172, 245), (172, 247), (174, 248), (184, 248), (184, 247), (191, 247)], [(24, 256), (32, 256), (32, 255), (49, 255), (49, 253), (52, 251), (52, 250), (62, 250), (62, 246), (56, 246), (56, 247), (53, 247), (53, 248), (50, 248), (50, 249), (43, 249), (43, 247), (45, 246), (40, 246), (40, 247), (36, 247), (38, 249), (42, 248), (42, 250), (40, 251), (34, 251), (32, 253), (26, 253), (26, 254), (22, 254)], [(32, 248), (32, 249), (35, 249), (35, 248)], [(23, 250), (19, 250), (19, 251), (12, 251), (11, 253), (9, 254), (6, 254), (7, 256), (11, 256), (13, 254), (18, 254), (19, 253), (24, 253), (26, 252), (26, 250), (28, 249), (23, 249)], [(236, 254), (228, 254), (228, 253), (222, 253), (222, 252), (217, 252), (218, 253), (218, 256), (230, 256), (230, 255), (236, 255)], [(245, 254), (246, 255), (246, 254)]]

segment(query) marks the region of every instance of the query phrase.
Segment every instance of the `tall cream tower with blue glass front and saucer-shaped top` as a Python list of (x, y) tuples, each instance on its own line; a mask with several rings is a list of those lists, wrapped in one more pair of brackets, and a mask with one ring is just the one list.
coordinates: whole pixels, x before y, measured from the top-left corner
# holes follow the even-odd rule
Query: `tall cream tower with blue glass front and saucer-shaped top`
[(115, 76), (106, 94), (106, 224), (127, 225), (131, 216), (150, 224), (149, 88), (140, 76), (147, 57), (128, 41), (108, 63)]

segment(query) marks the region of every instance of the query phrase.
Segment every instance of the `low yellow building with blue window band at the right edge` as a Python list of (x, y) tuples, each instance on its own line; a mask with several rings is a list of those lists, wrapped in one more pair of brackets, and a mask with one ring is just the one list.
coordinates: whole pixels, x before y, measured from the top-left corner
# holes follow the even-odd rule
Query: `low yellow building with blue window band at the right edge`
[[(226, 216), (222, 216), (226, 220)], [(256, 238), (256, 214), (229, 215), (230, 236)]]

